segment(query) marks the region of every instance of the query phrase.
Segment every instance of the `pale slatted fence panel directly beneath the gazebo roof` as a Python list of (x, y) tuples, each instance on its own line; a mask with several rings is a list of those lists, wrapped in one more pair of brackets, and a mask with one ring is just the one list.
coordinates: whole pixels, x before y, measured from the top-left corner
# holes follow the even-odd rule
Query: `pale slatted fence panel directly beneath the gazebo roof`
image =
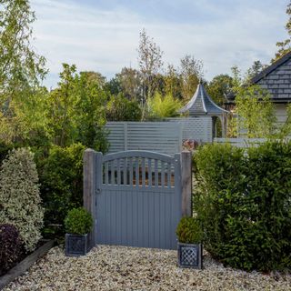
[(213, 125), (211, 116), (167, 118), (169, 122), (182, 125), (182, 139), (194, 139), (199, 143), (211, 143), (213, 139)]

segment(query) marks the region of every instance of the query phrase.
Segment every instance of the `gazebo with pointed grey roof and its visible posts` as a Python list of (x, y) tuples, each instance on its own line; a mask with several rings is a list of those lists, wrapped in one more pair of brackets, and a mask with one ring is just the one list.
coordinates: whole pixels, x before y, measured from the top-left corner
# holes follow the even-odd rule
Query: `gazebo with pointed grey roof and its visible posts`
[(228, 111), (216, 105), (201, 83), (197, 86), (196, 93), (191, 100), (179, 110), (179, 113), (188, 113), (190, 117), (210, 116), (213, 122), (214, 136), (216, 136), (216, 121), (219, 118), (222, 136), (226, 135), (226, 114)]

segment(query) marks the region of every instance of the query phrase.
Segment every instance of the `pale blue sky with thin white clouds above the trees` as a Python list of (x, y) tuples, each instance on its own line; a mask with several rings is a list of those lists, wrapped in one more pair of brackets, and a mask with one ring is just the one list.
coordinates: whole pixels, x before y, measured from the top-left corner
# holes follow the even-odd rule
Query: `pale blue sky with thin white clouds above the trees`
[(287, 38), (288, 0), (31, 0), (35, 51), (55, 87), (62, 63), (97, 71), (109, 80), (124, 66), (137, 68), (143, 28), (167, 64), (185, 55), (204, 63), (204, 77), (243, 72), (254, 61), (268, 64), (276, 42)]

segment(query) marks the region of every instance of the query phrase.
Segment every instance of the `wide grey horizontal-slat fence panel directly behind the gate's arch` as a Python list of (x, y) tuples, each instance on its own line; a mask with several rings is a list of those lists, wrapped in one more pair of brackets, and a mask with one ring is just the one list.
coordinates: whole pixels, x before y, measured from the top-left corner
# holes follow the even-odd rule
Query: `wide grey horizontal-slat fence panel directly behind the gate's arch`
[(108, 122), (108, 153), (147, 150), (174, 156), (182, 150), (182, 125), (173, 122)]

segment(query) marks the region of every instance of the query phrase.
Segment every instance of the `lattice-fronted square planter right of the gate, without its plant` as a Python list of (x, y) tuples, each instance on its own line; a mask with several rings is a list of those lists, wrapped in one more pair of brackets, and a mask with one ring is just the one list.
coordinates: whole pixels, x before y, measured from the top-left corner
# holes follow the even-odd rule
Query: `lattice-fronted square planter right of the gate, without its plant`
[(202, 269), (202, 244), (192, 245), (178, 242), (178, 266)]

